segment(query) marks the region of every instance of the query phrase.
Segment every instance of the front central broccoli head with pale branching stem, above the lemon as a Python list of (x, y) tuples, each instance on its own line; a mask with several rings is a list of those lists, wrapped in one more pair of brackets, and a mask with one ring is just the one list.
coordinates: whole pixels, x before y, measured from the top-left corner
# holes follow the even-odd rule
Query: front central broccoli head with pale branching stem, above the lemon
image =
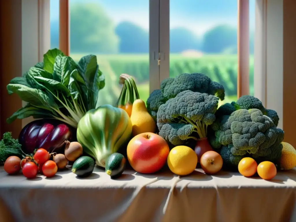
[(180, 92), (158, 109), (159, 135), (173, 145), (207, 137), (207, 126), (215, 121), (218, 100), (206, 93)]

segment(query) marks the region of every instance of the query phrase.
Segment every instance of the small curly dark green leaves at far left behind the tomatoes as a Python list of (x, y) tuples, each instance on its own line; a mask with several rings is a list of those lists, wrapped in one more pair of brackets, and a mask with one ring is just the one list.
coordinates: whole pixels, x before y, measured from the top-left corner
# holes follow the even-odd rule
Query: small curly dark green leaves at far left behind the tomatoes
[(22, 159), (23, 154), (18, 139), (13, 139), (11, 132), (4, 133), (0, 141), (0, 165), (3, 165), (10, 156), (17, 156)]

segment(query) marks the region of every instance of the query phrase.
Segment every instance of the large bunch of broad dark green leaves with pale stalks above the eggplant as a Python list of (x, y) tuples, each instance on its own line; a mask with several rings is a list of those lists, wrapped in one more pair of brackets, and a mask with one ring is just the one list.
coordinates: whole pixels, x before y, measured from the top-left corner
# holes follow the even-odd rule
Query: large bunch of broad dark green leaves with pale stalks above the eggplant
[(76, 64), (59, 49), (49, 50), (43, 62), (7, 85), (9, 94), (16, 93), (28, 102), (7, 123), (32, 116), (54, 118), (77, 127), (88, 110), (97, 108), (99, 90), (104, 86), (105, 78), (95, 55), (82, 57)]

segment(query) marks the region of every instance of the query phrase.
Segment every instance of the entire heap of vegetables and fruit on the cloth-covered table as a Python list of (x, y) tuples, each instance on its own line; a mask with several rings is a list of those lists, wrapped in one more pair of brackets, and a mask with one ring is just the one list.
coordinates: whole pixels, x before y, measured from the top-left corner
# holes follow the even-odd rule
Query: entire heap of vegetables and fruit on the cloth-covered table
[(121, 74), (116, 104), (97, 104), (104, 75), (96, 56), (75, 63), (58, 49), (7, 85), (27, 105), (7, 119), (38, 118), (18, 139), (4, 133), (0, 164), (8, 174), (27, 178), (53, 177), (72, 168), (88, 177), (95, 166), (111, 179), (128, 164), (137, 173), (153, 174), (165, 165), (186, 176), (201, 168), (214, 175), (237, 171), (245, 177), (271, 180), (280, 170), (296, 167), (296, 151), (284, 142), (275, 110), (254, 96), (218, 107), (221, 84), (201, 73), (183, 73), (161, 82), (147, 102), (141, 100), (133, 77)]

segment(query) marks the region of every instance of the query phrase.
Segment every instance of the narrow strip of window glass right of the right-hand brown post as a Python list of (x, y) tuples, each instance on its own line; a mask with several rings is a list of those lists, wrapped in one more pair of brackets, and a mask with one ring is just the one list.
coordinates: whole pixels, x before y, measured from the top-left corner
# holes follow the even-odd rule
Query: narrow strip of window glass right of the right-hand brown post
[(250, 95), (254, 96), (254, 41), (255, 41), (255, 0), (249, 0), (250, 17)]

